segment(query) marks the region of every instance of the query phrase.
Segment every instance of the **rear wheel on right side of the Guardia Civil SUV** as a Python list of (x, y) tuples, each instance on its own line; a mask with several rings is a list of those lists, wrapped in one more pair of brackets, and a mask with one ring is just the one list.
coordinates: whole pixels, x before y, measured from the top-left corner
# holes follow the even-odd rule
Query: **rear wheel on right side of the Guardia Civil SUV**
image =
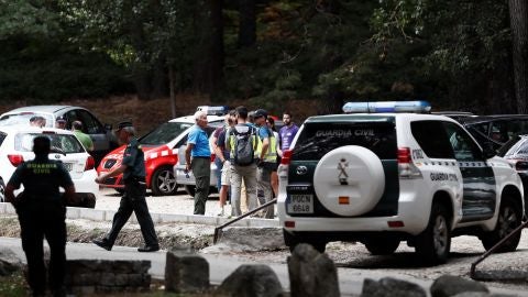
[(427, 265), (442, 264), (448, 261), (451, 249), (451, 224), (448, 209), (433, 204), (429, 223), (416, 238), (416, 252)]

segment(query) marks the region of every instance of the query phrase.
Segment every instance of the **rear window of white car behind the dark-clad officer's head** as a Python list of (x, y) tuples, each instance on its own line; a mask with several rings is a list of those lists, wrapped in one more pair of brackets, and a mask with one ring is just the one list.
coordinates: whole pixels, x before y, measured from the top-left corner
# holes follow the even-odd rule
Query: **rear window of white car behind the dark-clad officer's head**
[(14, 150), (20, 152), (33, 151), (33, 139), (45, 135), (50, 138), (52, 153), (76, 154), (86, 152), (80, 142), (74, 134), (41, 134), (41, 133), (19, 133), (14, 136)]

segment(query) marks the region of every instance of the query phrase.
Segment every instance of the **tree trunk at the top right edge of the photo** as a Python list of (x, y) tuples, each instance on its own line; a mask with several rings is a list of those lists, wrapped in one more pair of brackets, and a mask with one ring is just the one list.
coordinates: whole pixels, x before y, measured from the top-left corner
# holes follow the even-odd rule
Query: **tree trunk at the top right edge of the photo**
[(528, 2), (509, 0), (509, 21), (513, 35), (513, 62), (517, 112), (527, 113), (528, 99)]

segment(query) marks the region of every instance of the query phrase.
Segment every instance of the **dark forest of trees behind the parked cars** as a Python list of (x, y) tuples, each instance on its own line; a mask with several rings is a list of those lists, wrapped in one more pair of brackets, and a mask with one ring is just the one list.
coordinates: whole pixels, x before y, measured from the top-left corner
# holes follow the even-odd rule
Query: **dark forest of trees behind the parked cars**
[(278, 116), (293, 109), (300, 119), (339, 113), (346, 101), (404, 99), (428, 100), (435, 110), (527, 113), (527, 7), (0, 0), (0, 102), (102, 100), (143, 114), (155, 102), (167, 114), (148, 117), (154, 122), (202, 103)]

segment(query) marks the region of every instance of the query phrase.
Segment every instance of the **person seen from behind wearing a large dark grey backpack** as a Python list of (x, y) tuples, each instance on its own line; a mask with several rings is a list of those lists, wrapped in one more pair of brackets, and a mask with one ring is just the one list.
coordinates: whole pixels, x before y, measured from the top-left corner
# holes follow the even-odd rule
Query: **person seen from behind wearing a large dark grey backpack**
[(249, 200), (249, 209), (256, 208), (256, 129), (246, 123), (248, 109), (238, 107), (237, 125), (229, 129), (226, 136), (226, 148), (231, 158), (231, 207), (232, 216), (241, 216), (240, 194), (242, 179)]

